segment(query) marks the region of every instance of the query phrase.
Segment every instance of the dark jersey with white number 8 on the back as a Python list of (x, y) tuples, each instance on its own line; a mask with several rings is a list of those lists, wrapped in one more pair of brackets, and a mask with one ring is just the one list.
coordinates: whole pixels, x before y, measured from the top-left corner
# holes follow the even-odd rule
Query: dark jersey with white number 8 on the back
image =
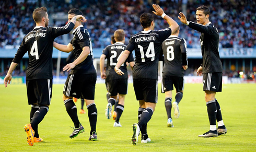
[(187, 57), (187, 42), (185, 39), (177, 36), (170, 36), (162, 43), (162, 53), (164, 54), (164, 68), (162, 69), (162, 76), (184, 76), (184, 69), (182, 67), (182, 53), (184, 53), (186, 60), (184, 63), (188, 65)]

